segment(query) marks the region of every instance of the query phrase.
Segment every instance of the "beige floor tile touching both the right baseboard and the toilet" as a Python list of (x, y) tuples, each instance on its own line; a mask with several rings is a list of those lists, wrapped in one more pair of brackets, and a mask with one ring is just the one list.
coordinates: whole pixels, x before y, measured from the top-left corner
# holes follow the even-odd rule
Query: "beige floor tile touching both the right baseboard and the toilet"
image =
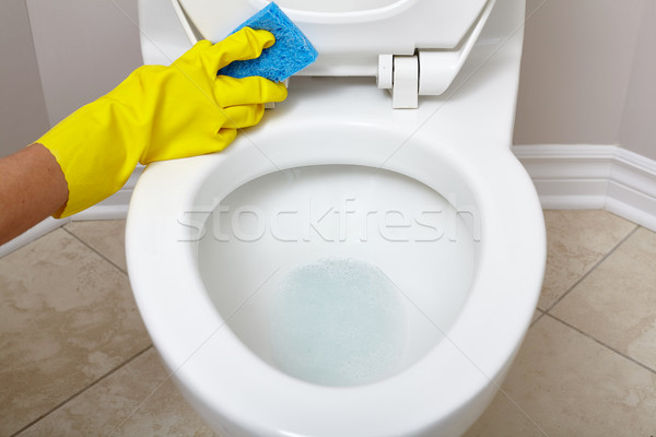
[(538, 307), (550, 307), (636, 225), (606, 211), (544, 211), (547, 271)]

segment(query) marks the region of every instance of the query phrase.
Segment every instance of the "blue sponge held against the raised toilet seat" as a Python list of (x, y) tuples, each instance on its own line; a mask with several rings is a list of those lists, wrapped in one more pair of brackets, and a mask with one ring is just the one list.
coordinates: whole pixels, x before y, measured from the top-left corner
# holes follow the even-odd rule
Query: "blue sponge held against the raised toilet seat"
[(263, 49), (259, 58), (231, 62), (219, 70), (219, 74), (233, 78), (261, 75), (280, 82), (317, 59), (318, 54), (312, 43), (273, 2), (242, 23), (233, 33), (246, 26), (271, 32), (276, 36), (276, 44)]

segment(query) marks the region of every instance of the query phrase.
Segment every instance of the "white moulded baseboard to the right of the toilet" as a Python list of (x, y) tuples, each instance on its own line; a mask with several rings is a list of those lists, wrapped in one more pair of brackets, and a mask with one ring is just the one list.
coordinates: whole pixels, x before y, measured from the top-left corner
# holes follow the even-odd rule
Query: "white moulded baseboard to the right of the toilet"
[(617, 145), (515, 145), (544, 209), (605, 209), (656, 231), (656, 161)]

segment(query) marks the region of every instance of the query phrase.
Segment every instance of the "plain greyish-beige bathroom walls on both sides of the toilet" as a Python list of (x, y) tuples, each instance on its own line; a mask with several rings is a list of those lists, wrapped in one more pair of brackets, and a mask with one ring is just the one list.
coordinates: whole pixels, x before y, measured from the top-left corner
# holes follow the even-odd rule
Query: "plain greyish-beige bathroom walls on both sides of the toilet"
[[(24, 3), (4, 0), (0, 154), (45, 129), (44, 102), (55, 123), (141, 63), (137, 0), (26, 1), (44, 97)], [(655, 1), (527, 0), (527, 16), (515, 143), (619, 143), (656, 160)]]

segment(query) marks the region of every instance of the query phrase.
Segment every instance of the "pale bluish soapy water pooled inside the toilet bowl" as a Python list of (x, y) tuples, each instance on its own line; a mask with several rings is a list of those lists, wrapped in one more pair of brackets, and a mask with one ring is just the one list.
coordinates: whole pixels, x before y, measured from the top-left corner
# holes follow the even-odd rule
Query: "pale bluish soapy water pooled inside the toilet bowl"
[(271, 314), (278, 367), (326, 386), (356, 386), (394, 374), (406, 344), (402, 295), (377, 267), (326, 258), (291, 270)]

